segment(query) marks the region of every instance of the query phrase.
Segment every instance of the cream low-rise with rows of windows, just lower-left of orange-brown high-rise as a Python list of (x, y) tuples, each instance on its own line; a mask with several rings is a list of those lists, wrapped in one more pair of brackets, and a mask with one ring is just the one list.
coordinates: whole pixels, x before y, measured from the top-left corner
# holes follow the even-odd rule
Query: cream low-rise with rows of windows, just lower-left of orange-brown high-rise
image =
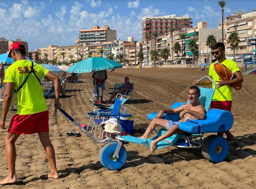
[(57, 47), (57, 61), (63, 61), (63, 53), (64, 61), (77, 60), (80, 58), (80, 46), (81, 45), (72, 45), (72, 46), (60, 46)]

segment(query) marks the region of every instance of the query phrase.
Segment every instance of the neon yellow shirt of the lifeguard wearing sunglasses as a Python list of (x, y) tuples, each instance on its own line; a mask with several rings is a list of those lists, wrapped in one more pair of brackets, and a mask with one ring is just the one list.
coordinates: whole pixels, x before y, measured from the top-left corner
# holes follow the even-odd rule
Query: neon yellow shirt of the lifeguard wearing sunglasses
[[(234, 73), (237, 71), (240, 71), (236, 62), (234, 62), (228, 58), (221, 63), (223, 65), (227, 66)], [(218, 82), (216, 82), (216, 81), (220, 81), (218, 74), (215, 72), (215, 70), (213, 68), (213, 63), (210, 65), (210, 68), (209, 68), (209, 76), (212, 76), (212, 80), (215, 82), (215, 84), (218, 84)], [(212, 84), (212, 88), (213, 87), (214, 87), (214, 85)], [(232, 101), (232, 99), (233, 99), (233, 87), (231, 87), (229, 85), (224, 85), (220, 88), (216, 87), (212, 101)]]

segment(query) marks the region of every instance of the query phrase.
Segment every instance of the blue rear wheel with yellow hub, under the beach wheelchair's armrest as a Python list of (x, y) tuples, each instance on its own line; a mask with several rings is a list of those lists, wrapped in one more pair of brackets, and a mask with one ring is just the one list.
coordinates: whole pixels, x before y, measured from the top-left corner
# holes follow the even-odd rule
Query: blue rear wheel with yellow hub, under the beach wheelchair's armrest
[(222, 136), (210, 135), (202, 145), (202, 154), (213, 163), (222, 162), (228, 156), (228, 141)]

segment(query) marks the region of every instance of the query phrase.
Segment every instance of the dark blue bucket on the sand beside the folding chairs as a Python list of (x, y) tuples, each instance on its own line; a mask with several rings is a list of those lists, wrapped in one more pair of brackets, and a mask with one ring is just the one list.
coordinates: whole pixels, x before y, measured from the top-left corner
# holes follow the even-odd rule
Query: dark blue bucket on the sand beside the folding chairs
[(120, 114), (120, 125), (121, 125), (121, 129), (122, 131), (125, 131), (126, 134), (132, 134), (133, 131), (133, 115), (131, 114)]

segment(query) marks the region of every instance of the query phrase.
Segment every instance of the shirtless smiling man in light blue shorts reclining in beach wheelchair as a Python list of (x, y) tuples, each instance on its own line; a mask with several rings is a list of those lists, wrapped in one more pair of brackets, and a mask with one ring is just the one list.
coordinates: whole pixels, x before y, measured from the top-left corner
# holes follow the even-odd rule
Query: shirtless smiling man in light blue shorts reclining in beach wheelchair
[[(156, 128), (156, 126), (160, 126), (167, 130), (162, 136), (158, 137), (156, 140), (150, 143), (150, 150), (155, 151), (157, 142), (160, 142), (175, 133), (182, 134), (184, 131), (179, 129), (179, 123), (185, 122), (188, 119), (191, 120), (204, 120), (206, 118), (205, 110), (202, 105), (199, 103), (200, 97), (200, 89), (196, 86), (191, 86), (188, 89), (188, 102), (189, 104), (181, 105), (178, 108), (174, 109), (163, 109), (157, 113), (156, 118), (154, 118), (149, 124), (145, 133), (140, 137), (142, 139), (147, 139), (148, 135)], [(165, 120), (162, 119), (164, 113), (174, 114), (180, 113), (179, 121)]]

